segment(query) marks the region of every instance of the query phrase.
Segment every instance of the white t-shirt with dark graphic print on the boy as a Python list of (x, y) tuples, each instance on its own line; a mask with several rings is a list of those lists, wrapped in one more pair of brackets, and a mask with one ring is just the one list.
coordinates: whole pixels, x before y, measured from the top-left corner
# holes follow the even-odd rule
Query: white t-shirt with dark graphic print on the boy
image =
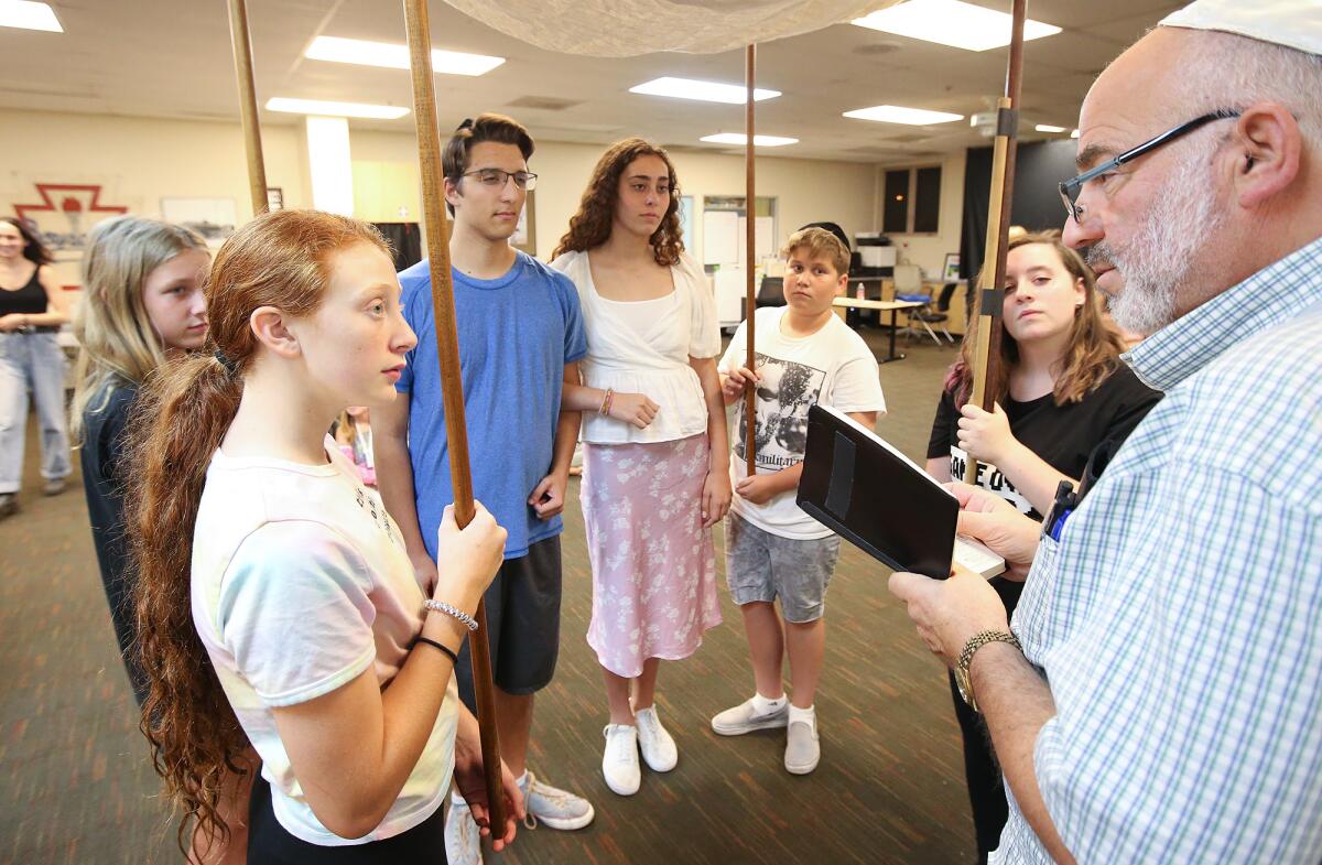
[[(755, 455), (759, 475), (771, 475), (804, 462), (808, 443), (808, 409), (814, 403), (841, 411), (886, 413), (886, 398), (871, 349), (839, 317), (832, 316), (820, 331), (806, 337), (781, 333), (780, 321), (788, 307), (758, 309), (755, 332), (758, 418)], [(740, 324), (720, 358), (719, 368), (743, 366), (747, 341)], [(743, 406), (743, 402), (736, 402)], [(730, 459), (730, 477), (738, 484), (748, 475), (744, 458), (747, 415), (738, 411), (739, 423)], [(755, 505), (736, 493), (731, 511), (758, 528), (796, 540), (829, 537), (832, 530), (804, 513), (795, 503), (795, 491), (783, 492), (765, 504)]]

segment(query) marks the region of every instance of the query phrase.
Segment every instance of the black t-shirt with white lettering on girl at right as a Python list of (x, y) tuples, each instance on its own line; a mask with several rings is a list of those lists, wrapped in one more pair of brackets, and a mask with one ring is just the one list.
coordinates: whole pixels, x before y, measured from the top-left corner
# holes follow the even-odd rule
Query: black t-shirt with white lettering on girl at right
[[(1079, 402), (1058, 406), (1055, 397), (1047, 394), (1027, 402), (1006, 399), (1002, 407), (1010, 421), (1010, 434), (1021, 444), (1062, 475), (1077, 480), (1092, 450), (1108, 439), (1114, 439), (1118, 447), (1158, 399), (1161, 393), (1144, 385), (1121, 364)], [(968, 454), (960, 447), (960, 417), (954, 397), (944, 391), (927, 446), (928, 459), (951, 458), (951, 477), (957, 480), (964, 479), (968, 464)], [(1034, 520), (1043, 517), (995, 466), (978, 463), (976, 485), (994, 492)]]

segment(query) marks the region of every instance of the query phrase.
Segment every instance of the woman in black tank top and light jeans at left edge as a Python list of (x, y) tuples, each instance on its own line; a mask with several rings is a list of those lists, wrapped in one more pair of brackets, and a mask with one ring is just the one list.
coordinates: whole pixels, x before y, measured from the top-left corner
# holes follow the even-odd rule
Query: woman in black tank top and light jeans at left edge
[(65, 422), (65, 356), (56, 341), (69, 320), (50, 253), (26, 225), (0, 217), (0, 518), (19, 509), (28, 390), (41, 426), (42, 492), (63, 492), (73, 472)]

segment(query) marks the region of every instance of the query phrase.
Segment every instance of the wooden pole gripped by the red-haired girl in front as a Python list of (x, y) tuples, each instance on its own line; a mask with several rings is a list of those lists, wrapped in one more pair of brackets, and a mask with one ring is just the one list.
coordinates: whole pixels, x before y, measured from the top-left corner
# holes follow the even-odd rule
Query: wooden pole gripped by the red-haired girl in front
[[(467, 526), (473, 520), (473, 480), (468, 467), (468, 426), (464, 422), (464, 382), (459, 368), (459, 333), (455, 325), (455, 287), (449, 274), (449, 222), (446, 218), (446, 175), (440, 164), (436, 130), (436, 90), (431, 71), (431, 30), (427, 0), (405, 0), (408, 30), (414, 115), (418, 120), (418, 163), (422, 171), (423, 226), (431, 267), (431, 302), (440, 360), (440, 391), (446, 406), (446, 436), (449, 450), (449, 480), (455, 491), (455, 520)], [(444, 562), (438, 562), (442, 567)], [(492, 684), (486, 606), (477, 604), (477, 631), (468, 639), (473, 660), (473, 690), (481, 729), (483, 770), (486, 775), (486, 811), (492, 837), (505, 833), (505, 794), (501, 786), (500, 735), (496, 730), (496, 689)]]

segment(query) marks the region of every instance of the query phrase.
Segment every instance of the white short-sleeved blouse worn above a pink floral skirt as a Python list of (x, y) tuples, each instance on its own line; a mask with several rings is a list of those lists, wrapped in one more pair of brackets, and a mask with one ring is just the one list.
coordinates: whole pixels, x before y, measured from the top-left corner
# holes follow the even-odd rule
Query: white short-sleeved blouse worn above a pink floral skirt
[(592, 444), (673, 442), (707, 429), (707, 403), (689, 357), (720, 353), (715, 300), (702, 267), (689, 255), (670, 267), (674, 291), (653, 300), (608, 300), (596, 292), (587, 253), (566, 253), (551, 267), (574, 280), (587, 327), (579, 364), (590, 388), (641, 393), (661, 409), (646, 429), (583, 413), (583, 440)]

